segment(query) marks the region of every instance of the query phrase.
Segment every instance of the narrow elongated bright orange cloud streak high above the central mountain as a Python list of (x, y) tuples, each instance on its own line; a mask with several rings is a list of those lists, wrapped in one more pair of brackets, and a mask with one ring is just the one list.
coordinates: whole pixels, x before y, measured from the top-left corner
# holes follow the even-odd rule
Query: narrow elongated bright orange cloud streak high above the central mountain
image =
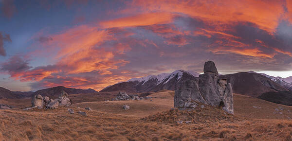
[(153, 24), (164, 24), (172, 21), (173, 14), (171, 13), (145, 13), (132, 17), (118, 18), (108, 21), (100, 22), (104, 28), (112, 27), (133, 27), (133, 26), (146, 26)]

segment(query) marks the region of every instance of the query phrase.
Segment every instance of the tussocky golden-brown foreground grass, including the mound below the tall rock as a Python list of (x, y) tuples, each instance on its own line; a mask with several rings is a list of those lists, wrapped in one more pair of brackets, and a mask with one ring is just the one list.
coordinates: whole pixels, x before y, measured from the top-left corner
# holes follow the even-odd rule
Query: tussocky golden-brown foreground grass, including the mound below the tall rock
[[(72, 107), (71, 107), (72, 108)], [(251, 120), (214, 107), (191, 111), (168, 110), (145, 118), (97, 111), (88, 117), (70, 115), (66, 107), (55, 110), (0, 111), (0, 139), (4, 141), (166, 141), (262, 140), (291, 141), (292, 121)], [(179, 124), (177, 121), (183, 121)], [(185, 123), (191, 121), (191, 123)]]

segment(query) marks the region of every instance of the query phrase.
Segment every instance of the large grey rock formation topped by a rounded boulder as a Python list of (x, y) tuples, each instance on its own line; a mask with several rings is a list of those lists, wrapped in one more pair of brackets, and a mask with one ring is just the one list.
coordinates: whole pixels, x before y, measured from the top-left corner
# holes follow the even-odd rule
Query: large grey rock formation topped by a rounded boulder
[(174, 106), (177, 108), (193, 108), (198, 104), (220, 106), (233, 114), (233, 93), (231, 84), (226, 78), (219, 79), (215, 63), (208, 61), (204, 65), (204, 74), (199, 81), (184, 80), (175, 90)]

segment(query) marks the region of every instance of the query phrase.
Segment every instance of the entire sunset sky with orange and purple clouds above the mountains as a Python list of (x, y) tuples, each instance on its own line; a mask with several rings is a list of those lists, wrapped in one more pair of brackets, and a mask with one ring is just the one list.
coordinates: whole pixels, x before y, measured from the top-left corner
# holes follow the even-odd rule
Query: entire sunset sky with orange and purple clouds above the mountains
[(0, 87), (93, 88), (175, 70), (292, 76), (292, 0), (0, 0)]

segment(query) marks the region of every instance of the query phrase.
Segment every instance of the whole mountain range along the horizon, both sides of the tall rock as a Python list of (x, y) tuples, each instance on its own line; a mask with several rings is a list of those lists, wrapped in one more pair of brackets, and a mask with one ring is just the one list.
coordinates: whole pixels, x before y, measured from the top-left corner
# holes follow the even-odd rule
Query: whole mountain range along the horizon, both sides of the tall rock
[[(172, 73), (161, 73), (158, 75), (148, 75), (146, 77), (131, 78), (126, 82), (120, 82), (102, 89), (99, 92), (118, 92), (128, 93), (156, 92), (163, 89), (175, 90), (179, 82), (192, 79), (198, 81), (200, 73), (177, 70)], [(292, 105), (292, 77), (274, 77), (255, 71), (238, 72), (233, 74), (219, 75), (220, 78), (227, 78), (232, 84), (233, 92), (252, 97), (261, 98), (270, 102)], [(63, 86), (37, 90), (36, 92), (10, 91), (0, 87), (0, 99), (19, 99), (31, 97), (34, 94), (43, 96), (57, 97), (64, 90), (68, 94), (78, 93), (97, 93), (94, 89), (76, 89)], [(288, 101), (287, 101), (288, 100)]]

